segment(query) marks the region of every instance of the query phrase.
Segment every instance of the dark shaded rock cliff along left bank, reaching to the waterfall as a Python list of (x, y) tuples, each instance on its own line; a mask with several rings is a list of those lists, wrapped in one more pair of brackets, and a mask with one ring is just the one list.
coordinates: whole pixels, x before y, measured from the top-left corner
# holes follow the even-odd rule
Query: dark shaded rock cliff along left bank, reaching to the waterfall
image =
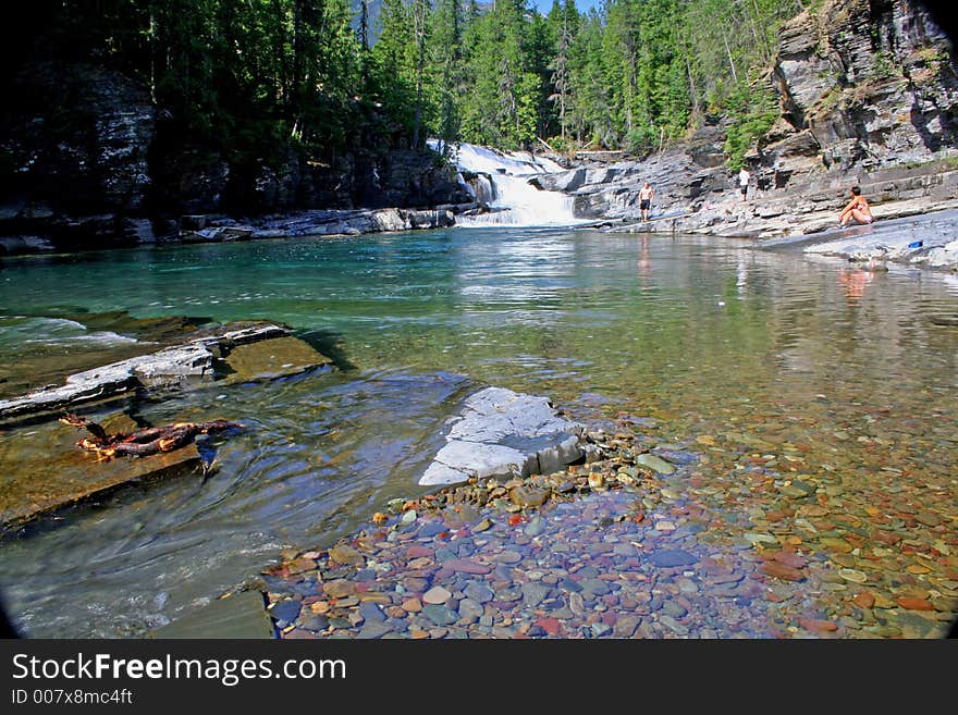
[(0, 254), (106, 247), (176, 236), (180, 217), (468, 202), (418, 151), (356, 151), (331, 162), (292, 148), (230, 161), (184, 145), (149, 90), (96, 66), (33, 64), (0, 126)]

